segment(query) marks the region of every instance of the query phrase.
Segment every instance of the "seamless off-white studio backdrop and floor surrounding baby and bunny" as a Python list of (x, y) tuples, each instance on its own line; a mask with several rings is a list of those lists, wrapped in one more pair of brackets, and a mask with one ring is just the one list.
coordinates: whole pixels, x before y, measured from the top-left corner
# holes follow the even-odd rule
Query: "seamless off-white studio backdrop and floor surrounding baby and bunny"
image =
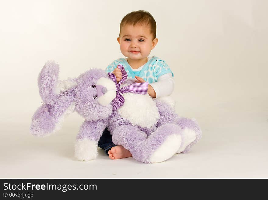
[[(191, 153), (144, 165), (100, 150), (96, 160), (77, 161), (77, 113), (54, 135), (30, 135), (45, 62), (58, 62), (60, 79), (106, 68), (123, 57), (119, 24), (134, 10), (155, 18), (150, 56), (174, 72), (176, 112), (203, 131)], [(0, 0), (0, 177), (268, 177), (267, 10), (266, 0)]]

